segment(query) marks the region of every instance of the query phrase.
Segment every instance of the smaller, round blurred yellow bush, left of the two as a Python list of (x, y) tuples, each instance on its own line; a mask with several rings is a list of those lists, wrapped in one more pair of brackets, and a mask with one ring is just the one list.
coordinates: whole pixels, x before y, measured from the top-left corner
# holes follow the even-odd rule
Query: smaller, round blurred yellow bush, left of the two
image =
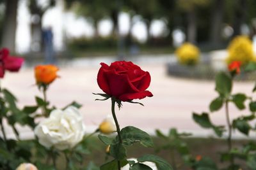
[(180, 64), (194, 65), (199, 60), (200, 50), (191, 43), (184, 43), (175, 51), (175, 54)]

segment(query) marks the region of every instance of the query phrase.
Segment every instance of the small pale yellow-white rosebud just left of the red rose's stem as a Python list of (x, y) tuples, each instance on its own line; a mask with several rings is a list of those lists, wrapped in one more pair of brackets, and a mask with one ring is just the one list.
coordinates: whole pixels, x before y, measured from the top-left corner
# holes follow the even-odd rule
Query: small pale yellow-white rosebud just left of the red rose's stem
[(115, 120), (108, 115), (99, 125), (99, 131), (103, 134), (111, 134), (116, 131)]

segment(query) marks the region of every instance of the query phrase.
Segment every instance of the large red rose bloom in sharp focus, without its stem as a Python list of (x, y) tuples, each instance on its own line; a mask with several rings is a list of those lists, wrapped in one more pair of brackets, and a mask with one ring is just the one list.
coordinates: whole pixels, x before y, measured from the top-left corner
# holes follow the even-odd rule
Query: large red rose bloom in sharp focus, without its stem
[(121, 101), (132, 101), (152, 97), (146, 90), (150, 85), (150, 74), (132, 62), (116, 61), (108, 66), (100, 63), (97, 76), (100, 89)]

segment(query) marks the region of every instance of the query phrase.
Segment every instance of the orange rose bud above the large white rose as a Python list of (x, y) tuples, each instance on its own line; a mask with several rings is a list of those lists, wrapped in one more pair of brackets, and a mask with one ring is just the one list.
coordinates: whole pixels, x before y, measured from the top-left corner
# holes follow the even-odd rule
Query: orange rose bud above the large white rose
[(35, 78), (36, 83), (44, 83), (45, 85), (49, 85), (54, 81), (58, 75), (57, 71), (59, 70), (58, 67), (54, 65), (38, 65), (35, 67)]

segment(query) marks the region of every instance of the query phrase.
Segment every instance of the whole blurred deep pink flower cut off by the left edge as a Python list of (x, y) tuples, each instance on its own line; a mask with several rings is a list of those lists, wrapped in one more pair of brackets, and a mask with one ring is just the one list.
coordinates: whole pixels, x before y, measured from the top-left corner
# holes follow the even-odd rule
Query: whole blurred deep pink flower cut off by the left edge
[(12, 57), (9, 55), (8, 48), (0, 50), (0, 78), (4, 77), (6, 70), (16, 72), (19, 71), (24, 59), (21, 57)]

